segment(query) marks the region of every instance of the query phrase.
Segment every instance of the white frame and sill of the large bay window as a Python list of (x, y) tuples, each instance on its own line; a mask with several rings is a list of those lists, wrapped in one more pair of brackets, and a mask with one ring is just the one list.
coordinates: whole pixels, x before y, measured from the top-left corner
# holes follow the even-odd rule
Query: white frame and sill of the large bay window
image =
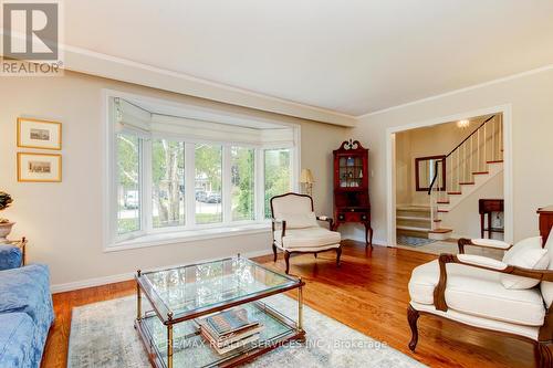
[[(134, 94), (117, 91), (103, 91), (104, 108), (104, 141), (105, 149), (103, 161), (105, 162), (104, 176), (104, 209), (107, 215), (104, 221), (104, 251), (112, 252), (125, 249), (143, 246), (164, 245), (168, 243), (181, 243), (198, 239), (220, 238), (223, 235), (242, 234), (250, 232), (267, 231), (270, 221), (264, 218), (264, 150), (265, 149), (290, 149), (291, 155), (291, 187), (293, 191), (299, 189), (300, 170), (300, 126), (284, 124), (293, 128), (294, 141), (290, 144), (251, 144), (240, 141), (220, 141), (197, 139), (177, 134), (154, 133), (149, 137), (139, 137), (140, 145), (140, 230), (119, 235), (117, 233), (117, 157), (116, 157), (116, 132), (115, 132), (115, 106), (114, 97), (140, 98), (148, 102), (167, 103)], [(185, 144), (185, 224), (165, 228), (153, 227), (153, 198), (152, 198), (152, 141), (154, 139), (168, 139), (182, 141)], [(222, 147), (222, 188), (221, 209), (222, 222), (196, 224), (196, 175), (195, 175), (195, 150), (196, 144), (220, 145)], [(244, 147), (254, 149), (254, 219), (231, 220), (231, 147)], [(192, 204), (190, 204), (192, 203)]]

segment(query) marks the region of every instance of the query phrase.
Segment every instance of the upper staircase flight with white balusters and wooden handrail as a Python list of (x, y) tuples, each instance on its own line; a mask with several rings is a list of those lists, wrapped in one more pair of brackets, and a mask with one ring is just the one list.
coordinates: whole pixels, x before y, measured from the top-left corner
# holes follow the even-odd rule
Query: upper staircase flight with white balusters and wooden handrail
[[(441, 165), (446, 165), (444, 178)], [(502, 115), (495, 114), (488, 117), (442, 160), (436, 161), (435, 175), (428, 190), (430, 217), (428, 238), (436, 240), (450, 238), (453, 229), (441, 227), (444, 217), (502, 171), (503, 122)]]

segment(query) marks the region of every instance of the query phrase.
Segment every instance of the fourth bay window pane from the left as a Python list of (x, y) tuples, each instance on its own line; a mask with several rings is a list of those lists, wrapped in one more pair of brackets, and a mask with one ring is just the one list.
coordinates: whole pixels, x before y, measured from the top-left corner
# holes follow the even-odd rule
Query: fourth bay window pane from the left
[(231, 147), (230, 172), (232, 221), (254, 219), (254, 150), (243, 147)]

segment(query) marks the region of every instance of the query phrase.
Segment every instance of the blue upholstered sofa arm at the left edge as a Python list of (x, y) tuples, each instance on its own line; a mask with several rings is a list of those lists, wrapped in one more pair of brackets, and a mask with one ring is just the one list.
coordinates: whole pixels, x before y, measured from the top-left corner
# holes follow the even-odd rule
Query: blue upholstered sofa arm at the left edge
[(0, 314), (25, 313), (33, 320), (30, 367), (40, 367), (48, 332), (54, 319), (48, 266), (31, 264), (0, 271)]

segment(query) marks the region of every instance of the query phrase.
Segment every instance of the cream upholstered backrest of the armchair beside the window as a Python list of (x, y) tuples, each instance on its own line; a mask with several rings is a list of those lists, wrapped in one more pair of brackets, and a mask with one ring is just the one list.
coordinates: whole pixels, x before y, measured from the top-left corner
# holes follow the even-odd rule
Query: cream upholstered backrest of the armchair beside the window
[(273, 218), (286, 221), (286, 229), (317, 227), (311, 197), (289, 193), (271, 199)]

